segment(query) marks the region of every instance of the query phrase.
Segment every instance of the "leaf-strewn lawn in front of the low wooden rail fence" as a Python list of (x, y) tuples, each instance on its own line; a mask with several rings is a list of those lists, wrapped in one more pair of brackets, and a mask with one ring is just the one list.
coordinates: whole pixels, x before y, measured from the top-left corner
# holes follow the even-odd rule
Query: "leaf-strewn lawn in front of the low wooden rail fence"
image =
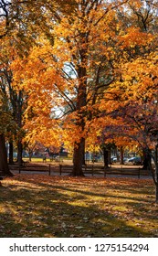
[(0, 187), (0, 237), (158, 237), (150, 179), (16, 175)]

